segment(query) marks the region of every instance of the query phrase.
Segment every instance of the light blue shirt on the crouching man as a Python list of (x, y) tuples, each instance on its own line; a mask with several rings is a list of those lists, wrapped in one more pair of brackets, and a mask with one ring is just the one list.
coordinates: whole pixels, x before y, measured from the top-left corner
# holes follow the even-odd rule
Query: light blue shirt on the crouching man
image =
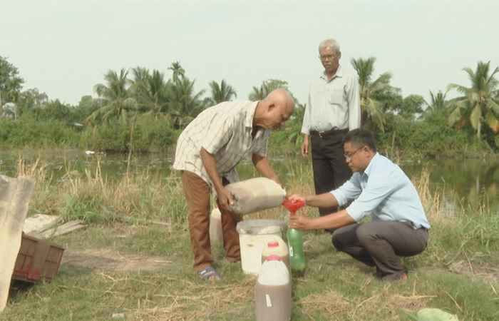
[(373, 220), (411, 223), (413, 228), (430, 228), (423, 205), (411, 180), (398, 165), (376, 155), (364, 172), (356, 172), (331, 194), (340, 206), (354, 200), (346, 212), (359, 222)]

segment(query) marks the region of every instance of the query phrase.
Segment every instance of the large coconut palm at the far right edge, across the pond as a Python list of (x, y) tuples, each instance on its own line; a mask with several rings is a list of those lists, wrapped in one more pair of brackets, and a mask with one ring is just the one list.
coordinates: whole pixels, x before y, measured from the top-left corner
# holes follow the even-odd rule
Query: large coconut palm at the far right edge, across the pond
[(449, 124), (463, 125), (469, 121), (478, 139), (481, 138), (483, 123), (489, 126), (493, 133), (499, 133), (499, 81), (494, 77), (499, 72), (499, 67), (490, 73), (490, 61), (478, 61), (475, 71), (471, 68), (463, 68), (463, 71), (468, 73), (471, 86), (465, 87), (456, 83), (448, 85), (448, 90), (455, 89), (463, 94), (451, 101)]

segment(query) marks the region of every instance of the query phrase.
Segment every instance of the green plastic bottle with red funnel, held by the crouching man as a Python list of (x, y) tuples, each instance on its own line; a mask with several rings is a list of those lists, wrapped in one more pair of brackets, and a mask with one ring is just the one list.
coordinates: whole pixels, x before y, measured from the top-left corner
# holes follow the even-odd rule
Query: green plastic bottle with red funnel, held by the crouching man
[[(289, 200), (286, 199), (282, 202), (289, 213), (294, 214), (299, 208), (305, 205), (304, 202), (300, 200)], [(307, 261), (305, 260), (305, 253), (303, 251), (303, 232), (295, 228), (289, 228), (286, 233), (287, 245), (289, 247), (289, 265), (291, 265), (291, 270), (293, 272), (302, 273), (307, 267)]]

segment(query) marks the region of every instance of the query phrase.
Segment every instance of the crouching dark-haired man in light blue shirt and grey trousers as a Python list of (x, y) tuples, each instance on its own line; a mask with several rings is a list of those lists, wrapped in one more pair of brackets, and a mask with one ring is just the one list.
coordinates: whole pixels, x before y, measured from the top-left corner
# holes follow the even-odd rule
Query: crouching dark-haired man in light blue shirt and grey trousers
[[(376, 276), (383, 280), (406, 279), (398, 257), (423, 252), (430, 228), (416, 188), (398, 165), (376, 152), (370, 131), (349, 131), (344, 138), (344, 156), (354, 172), (346, 183), (329, 193), (292, 195), (290, 199), (314, 207), (353, 202), (320, 218), (292, 215), (289, 227), (336, 229), (332, 235), (334, 248), (376, 266)], [(371, 222), (359, 223), (366, 216)]]

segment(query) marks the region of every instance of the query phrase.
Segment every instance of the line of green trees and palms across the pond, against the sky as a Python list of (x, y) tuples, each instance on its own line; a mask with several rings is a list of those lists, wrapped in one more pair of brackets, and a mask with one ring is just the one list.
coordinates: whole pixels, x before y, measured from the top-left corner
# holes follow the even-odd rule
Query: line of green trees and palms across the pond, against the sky
[[(375, 62), (374, 57), (351, 59), (359, 76), (363, 126), (375, 131), (382, 141), (388, 144), (391, 139), (392, 145), (398, 141), (397, 145), (401, 147), (411, 146), (403, 142), (409, 139), (403, 138), (404, 129), (409, 126), (419, 128), (417, 131), (426, 128), (427, 133), (420, 135), (424, 139), (431, 140), (435, 136), (433, 139), (438, 140), (443, 133), (457, 137), (456, 147), (463, 141), (478, 141), (482, 147), (499, 149), (499, 85), (495, 78), (499, 68), (491, 70), (490, 62), (483, 61), (479, 61), (475, 69), (463, 68), (468, 74), (468, 86), (448, 84), (445, 91), (430, 91), (431, 99), (425, 101), (416, 94), (403, 97), (401, 89), (391, 84), (389, 72), (375, 77)], [(77, 106), (71, 106), (58, 99), (49, 99), (37, 88), (23, 90), (24, 80), (19, 70), (0, 56), (0, 116), (11, 121), (23, 118), (38, 122), (58, 120), (67, 126), (94, 128), (93, 133), (96, 133), (95, 128), (110, 124), (125, 130), (136, 123), (157, 121), (163, 123), (160, 128), (166, 124), (175, 132), (187, 126), (205, 108), (240, 98), (225, 80), (211, 81), (207, 91), (196, 91), (195, 81), (187, 76), (178, 61), (171, 63), (166, 72), (170, 73), (169, 77), (165, 72), (143, 67), (109, 70), (103, 83), (93, 86), (95, 98), (83, 96)], [(262, 99), (279, 87), (288, 88), (287, 81), (262, 81), (259, 86), (252, 87), (247, 98)], [(456, 91), (460, 96), (448, 99), (449, 91)], [(276, 134), (277, 140), (294, 145), (299, 141), (306, 103), (295, 100), (296, 113), (284, 131)], [(434, 133), (429, 135), (428, 131)]]

